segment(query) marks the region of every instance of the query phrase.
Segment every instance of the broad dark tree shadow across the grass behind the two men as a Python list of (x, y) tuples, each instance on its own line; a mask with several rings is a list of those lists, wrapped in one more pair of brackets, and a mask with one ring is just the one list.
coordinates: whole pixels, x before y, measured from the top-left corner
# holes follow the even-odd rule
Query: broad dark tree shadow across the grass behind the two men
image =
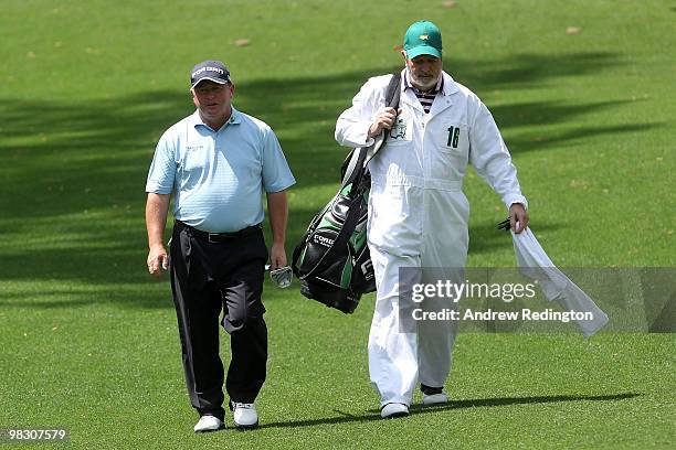
[[(521, 54), (496, 61), (452, 60), (446, 68), (486, 99), (500, 90), (553, 89), (563, 77), (581, 77), (621, 64), (614, 53)], [(332, 186), (338, 186), (347, 149), (340, 149), (332, 138), (337, 116), (368, 76), (392, 68), (243, 81), (237, 85), (235, 106), (275, 129), (298, 181), (294, 189), (305, 195), (291, 204), (289, 255), (309, 219), (330, 196), (308, 195), (308, 190), (331, 186), (332, 193)], [(645, 132), (657, 126), (589, 122), (580, 127), (585, 116), (622, 107), (624, 101), (577, 100), (498, 103), (490, 109), (503, 131), (513, 136), (507, 140), (515, 153), (605, 133)], [(163, 130), (191, 113), (189, 94), (182, 87), (96, 101), (0, 98), (0, 154), (4, 162), (0, 172), (2, 280), (125, 282), (156, 292), (144, 286), (154, 282), (145, 267), (145, 181)], [(511, 132), (519, 127), (552, 124), (557, 131), (547, 136)], [(489, 251), (501, 238), (493, 225), (473, 226), (472, 251)], [(57, 292), (31, 298), (41, 296), (55, 298)], [(99, 301), (86, 296), (82, 296), (83, 304)], [(149, 296), (138, 301), (123, 292), (108, 299), (140, 308), (167, 306), (165, 296)]]

